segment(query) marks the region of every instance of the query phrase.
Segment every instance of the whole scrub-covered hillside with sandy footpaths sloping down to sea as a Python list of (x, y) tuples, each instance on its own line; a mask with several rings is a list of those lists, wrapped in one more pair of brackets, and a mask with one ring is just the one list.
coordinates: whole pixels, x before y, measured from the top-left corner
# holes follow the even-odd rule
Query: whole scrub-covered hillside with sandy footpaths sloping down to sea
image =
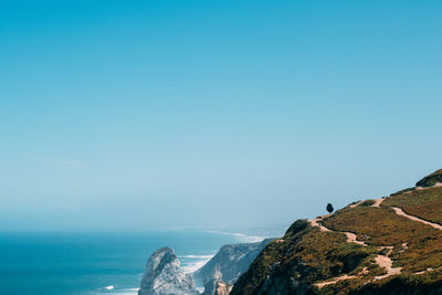
[(231, 294), (442, 294), (441, 177), (297, 220)]

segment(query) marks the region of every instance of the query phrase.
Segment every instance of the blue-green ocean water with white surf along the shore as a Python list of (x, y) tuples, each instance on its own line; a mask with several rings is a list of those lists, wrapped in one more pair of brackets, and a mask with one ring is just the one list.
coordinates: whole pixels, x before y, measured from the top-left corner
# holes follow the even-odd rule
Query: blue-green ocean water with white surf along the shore
[(222, 244), (255, 240), (203, 231), (0, 233), (0, 294), (137, 294), (158, 247), (171, 246), (193, 272)]

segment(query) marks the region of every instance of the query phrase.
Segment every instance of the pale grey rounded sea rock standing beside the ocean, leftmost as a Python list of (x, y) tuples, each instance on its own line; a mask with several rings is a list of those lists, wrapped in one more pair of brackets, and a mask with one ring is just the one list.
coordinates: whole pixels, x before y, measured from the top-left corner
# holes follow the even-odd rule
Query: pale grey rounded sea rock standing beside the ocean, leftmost
[(190, 274), (180, 270), (175, 251), (161, 247), (150, 255), (143, 275), (139, 295), (198, 295)]

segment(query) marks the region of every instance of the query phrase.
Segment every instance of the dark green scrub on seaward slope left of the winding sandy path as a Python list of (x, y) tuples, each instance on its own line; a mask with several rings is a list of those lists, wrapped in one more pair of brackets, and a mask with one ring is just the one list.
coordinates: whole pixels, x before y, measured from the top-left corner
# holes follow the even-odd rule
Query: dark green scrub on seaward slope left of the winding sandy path
[[(376, 254), (376, 247), (347, 243), (343, 233), (323, 232), (309, 226), (307, 221), (298, 220), (283, 239), (272, 241), (261, 252), (249, 272), (235, 283), (231, 294), (255, 294), (256, 289), (265, 288), (267, 275), (280, 277), (280, 285), (290, 285), (293, 280), (297, 280), (298, 284), (312, 285), (341, 274), (362, 273), (364, 268), (368, 268), (372, 271), (365, 275), (369, 280), (383, 273), (373, 264)], [(281, 281), (282, 277), (284, 281)], [(315, 288), (312, 287), (312, 292)]]

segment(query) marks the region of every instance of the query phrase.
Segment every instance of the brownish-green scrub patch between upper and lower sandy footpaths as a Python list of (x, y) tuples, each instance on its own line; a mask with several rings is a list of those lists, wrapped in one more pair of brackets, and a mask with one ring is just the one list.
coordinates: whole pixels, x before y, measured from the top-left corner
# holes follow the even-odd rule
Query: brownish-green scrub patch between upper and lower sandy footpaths
[(336, 231), (354, 232), (369, 245), (393, 246), (391, 259), (403, 272), (442, 266), (441, 231), (398, 215), (390, 208), (345, 208), (323, 224)]

